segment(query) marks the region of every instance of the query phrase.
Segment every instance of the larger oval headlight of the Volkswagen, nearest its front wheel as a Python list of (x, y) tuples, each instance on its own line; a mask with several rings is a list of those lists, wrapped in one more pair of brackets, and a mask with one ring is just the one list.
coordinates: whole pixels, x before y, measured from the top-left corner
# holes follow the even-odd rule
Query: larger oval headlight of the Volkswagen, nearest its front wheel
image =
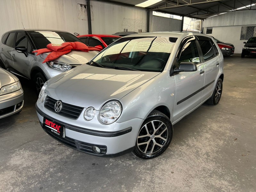
[(122, 113), (122, 105), (119, 101), (108, 101), (100, 109), (100, 121), (104, 124), (115, 122)]

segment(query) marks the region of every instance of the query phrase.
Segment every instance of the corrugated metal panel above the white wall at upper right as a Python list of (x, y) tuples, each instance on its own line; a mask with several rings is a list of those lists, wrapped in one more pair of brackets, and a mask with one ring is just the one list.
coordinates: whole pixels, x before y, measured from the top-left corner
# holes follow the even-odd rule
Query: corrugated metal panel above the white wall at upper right
[(256, 10), (227, 12), (204, 20), (204, 27), (255, 25)]

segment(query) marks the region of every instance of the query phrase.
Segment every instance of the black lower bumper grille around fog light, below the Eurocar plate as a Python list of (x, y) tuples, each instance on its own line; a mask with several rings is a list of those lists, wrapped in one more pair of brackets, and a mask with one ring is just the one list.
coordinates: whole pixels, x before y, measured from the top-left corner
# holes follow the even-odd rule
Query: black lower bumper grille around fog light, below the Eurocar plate
[[(65, 145), (68, 145), (71, 148), (75, 148), (79, 151), (83, 151), (85, 153), (90, 153), (90, 154), (94, 154), (94, 155), (105, 155), (107, 153), (107, 146), (104, 145), (96, 145), (96, 144), (91, 144), (91, 143), (85, 143), (83, 141), (78, 141), (78, 140), (74, 140), (72, 138), (69, 137), (57, 137), (55, 136), (52, 132), (46, 131), (48, 135), (50, 135), (51, 137), (53, 137), (54, 139), (60, 141), (61, 143), (64, 143)], [(93, 146), (97, 146), (100, 148), (100, 154), (96, 154), (93, 150), (92, 147)]]

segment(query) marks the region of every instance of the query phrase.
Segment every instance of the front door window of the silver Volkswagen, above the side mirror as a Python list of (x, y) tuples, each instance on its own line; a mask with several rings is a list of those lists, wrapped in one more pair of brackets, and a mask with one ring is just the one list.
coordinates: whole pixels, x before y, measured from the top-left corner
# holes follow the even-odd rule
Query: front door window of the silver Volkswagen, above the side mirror
[(196, 47), (196, 42), (191, 41), (185, 44), (180, 53), (180, 57), (178, 59), (179, 64), (181, 62), (194, 62), (200, 63), (199, 53)]

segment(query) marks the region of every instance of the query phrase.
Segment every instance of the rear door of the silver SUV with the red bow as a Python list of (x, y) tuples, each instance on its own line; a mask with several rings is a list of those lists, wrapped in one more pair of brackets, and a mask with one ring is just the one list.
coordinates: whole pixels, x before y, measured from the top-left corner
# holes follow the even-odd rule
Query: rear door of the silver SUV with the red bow
[(9, 33), (6, 41), (1, 46), (1, 60), (8, 69), (13, 68), (12, 50), (14, 48), (14, 37), (16, 32)]

